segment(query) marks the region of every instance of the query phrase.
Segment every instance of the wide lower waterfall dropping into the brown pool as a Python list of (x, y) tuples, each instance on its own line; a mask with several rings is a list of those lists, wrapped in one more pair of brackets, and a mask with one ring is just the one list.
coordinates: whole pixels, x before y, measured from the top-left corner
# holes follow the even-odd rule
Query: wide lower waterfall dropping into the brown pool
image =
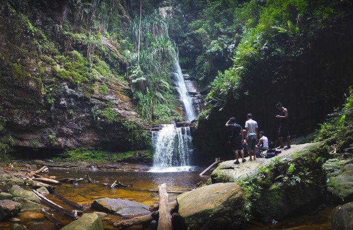
[(191, 145), (190, 127), (163, 125), (152, 137), (154, 159), (152, 172), (188, 171)]

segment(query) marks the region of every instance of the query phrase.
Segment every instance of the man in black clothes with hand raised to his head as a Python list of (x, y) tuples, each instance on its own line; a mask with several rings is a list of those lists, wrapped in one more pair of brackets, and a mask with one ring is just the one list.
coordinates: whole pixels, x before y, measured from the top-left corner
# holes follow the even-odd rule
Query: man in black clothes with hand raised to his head
[(239, 164), (239, 151), (243, 159), (243, 163), (246, 161), (244, 159), (244, 151), (243, 151), (243, 128), (236, 123), (236, 119), (234, 117), (230, 118), (225, 126), (231, 129), (231, 136), (229, 136), (229, 143), (232, 145), (232, 149), (235, 154), (236, 161), (234, 164)]

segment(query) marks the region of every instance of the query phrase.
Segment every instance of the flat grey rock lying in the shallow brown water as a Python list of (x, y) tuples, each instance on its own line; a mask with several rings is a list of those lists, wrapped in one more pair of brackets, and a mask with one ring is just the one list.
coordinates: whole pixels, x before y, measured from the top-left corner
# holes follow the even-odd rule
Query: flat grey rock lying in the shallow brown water
[(150, 213), (150, 207), (148, 205), (120, 198), (112, 199), (106, 197), (97, 199), (93, 201), (91, 207), (104, 212), (115, 212), (115, 214), (122, 216)]

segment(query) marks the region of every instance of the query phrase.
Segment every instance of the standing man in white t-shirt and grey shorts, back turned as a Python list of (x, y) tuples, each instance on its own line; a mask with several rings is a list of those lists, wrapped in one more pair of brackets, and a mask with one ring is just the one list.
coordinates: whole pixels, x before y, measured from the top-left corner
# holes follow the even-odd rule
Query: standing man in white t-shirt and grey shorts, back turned
[(252, 161), (252, 156), (256, 160), (256, 138), (258, 136), (258, 126), (257, 122), (252, 120), (252, 114), (247, 115), (247, 121), (245, 122), (245, 137), (247, 148), (249, 151), (250, 161)]

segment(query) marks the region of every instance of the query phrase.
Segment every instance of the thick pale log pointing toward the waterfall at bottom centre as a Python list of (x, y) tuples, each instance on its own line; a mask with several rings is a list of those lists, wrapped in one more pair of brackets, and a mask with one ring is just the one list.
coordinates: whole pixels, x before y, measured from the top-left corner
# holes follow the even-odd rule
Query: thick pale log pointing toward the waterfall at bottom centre
[(161, 184), (158, 186), (159, 195), (159, 217), (157, 230), (172, 230), (172, 216), (169, 209), (167, 185)]

